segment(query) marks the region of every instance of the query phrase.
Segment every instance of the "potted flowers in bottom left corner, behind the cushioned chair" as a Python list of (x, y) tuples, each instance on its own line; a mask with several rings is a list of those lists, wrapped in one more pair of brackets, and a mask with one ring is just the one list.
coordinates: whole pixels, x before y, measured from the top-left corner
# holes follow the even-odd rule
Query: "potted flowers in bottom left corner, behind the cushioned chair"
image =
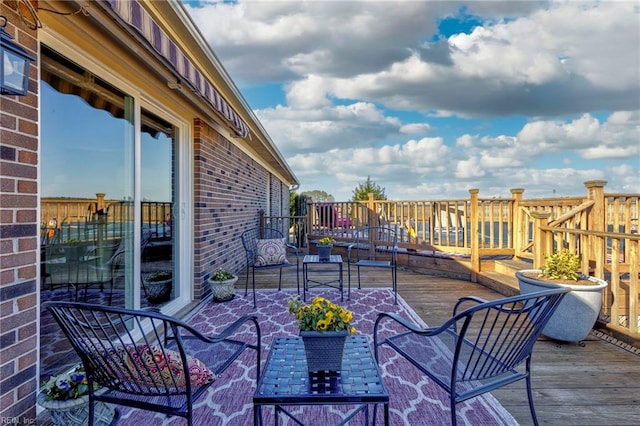
[[(81, 366), (51, 377), (38, 394), (38, 404), (49, 410), (55, 426), (89, 424), (89, 382)], [(94, 404), (94, 424), (109, 425), (116, 415), (114, 406), (98, 401)]]

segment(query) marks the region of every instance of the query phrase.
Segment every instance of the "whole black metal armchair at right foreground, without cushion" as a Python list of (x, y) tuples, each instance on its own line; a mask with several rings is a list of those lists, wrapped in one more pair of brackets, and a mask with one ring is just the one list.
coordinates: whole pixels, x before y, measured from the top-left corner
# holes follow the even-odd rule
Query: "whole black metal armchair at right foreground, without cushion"
[[(378, 314), (373, 331), (376, 360), (380, 346), (389, 345), (444, 389), (449, 394), (454, 426), (456, 404), (525, 379), (531, 417), (537, 425), (531, 353), (569, 291), (562, 288), (493, 301), (463, 297), (452, 318), (440, 327), (423, 328), (395, 314)], [(470, 307), (462, 310), (467, 305)], [(402, 331), (381, 339), (383, 320), (393, 321)]]

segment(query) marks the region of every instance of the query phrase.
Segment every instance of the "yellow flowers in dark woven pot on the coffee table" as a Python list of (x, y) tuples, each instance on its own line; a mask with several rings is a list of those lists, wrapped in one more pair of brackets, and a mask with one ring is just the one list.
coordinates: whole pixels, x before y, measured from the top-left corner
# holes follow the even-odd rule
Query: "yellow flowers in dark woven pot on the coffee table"
[(309, 305), (294, 297), (287, 304), (298, 320), (308, 371), (340, 371), (345, 340), (356, 332), (353, 312), (324, 297), (315, 297)]

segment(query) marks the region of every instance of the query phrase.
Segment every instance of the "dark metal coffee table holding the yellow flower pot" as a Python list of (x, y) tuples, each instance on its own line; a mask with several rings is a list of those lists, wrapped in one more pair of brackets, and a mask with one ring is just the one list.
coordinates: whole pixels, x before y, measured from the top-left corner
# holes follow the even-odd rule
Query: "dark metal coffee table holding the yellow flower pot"
[[(364, 411), (369, 424), (369, 405), (383, 404), (384, 424), (389, 424), (389, 394), (365, 336), (348, 337), (342, 370), (307, 371), (304, 345), (299, 337), (279, 337), (273, 342), (267, 362), (253, 395), (254, 425), (262, 424), (262, 406), (275, 406), (275, 424), (286, 415), (285, 408), (299, 405), (354, 405), (341, 424)], [(375, 423), (376, 408), (373, 409)]]

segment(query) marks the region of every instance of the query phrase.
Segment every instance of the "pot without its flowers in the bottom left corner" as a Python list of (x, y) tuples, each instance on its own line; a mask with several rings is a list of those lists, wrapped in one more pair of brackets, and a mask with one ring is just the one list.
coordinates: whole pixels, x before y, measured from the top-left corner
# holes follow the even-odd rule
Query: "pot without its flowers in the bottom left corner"
[[(54, 426), (85, 426), (89, 424), (89, 395), (66, 401), (47, 401), (44, 394), (38, 394), (38, 405), (49, 410)], [(115, 424), (118, 413), (114, 406), (98, 401), (95, 403), (94, 425)]]

